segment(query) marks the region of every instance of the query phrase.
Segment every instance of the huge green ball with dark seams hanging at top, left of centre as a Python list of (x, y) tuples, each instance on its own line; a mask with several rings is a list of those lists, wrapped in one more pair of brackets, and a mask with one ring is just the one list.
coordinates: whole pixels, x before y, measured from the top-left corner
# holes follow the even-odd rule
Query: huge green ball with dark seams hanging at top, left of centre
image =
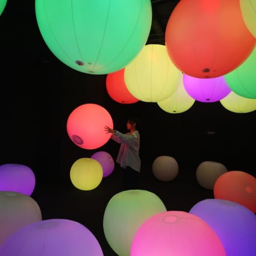
[(152, 6), (150, 0), (36, 0), (36, 19), (64, 64), (107, 74), (125, 67), (145, 45)]

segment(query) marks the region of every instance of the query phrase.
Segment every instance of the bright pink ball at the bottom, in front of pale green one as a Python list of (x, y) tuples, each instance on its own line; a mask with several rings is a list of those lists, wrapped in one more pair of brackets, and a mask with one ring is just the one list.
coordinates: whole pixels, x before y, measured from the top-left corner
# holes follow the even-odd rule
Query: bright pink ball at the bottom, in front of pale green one
[(213, 229), (201, 218), (185, 211), (166, 211), (140, 225), (131, 256), (226, 256)]

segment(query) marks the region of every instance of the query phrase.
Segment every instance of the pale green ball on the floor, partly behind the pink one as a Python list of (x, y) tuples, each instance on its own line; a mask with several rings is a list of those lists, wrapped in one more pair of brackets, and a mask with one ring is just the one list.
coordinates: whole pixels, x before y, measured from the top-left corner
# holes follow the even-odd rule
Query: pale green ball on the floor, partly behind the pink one
[[(130, 256), (134, 234), (148, 217), (166, 211), (161, 199), (147, 190), (125, 190), (114, 195), (105, 208), (103, 228), (117, 255)], [(146, 255), (146, 254), (145, 254)]]

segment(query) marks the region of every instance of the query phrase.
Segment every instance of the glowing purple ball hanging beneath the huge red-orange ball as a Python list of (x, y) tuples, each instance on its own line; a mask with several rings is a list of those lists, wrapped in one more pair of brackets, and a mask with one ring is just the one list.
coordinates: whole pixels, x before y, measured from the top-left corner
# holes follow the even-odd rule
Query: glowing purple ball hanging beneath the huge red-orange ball
[(196, 78), (183, 74), (183, 84), (186, 92), (196, 101), (216, 102), (225, 98), (231, 89), (223, 76), (216, 78)]

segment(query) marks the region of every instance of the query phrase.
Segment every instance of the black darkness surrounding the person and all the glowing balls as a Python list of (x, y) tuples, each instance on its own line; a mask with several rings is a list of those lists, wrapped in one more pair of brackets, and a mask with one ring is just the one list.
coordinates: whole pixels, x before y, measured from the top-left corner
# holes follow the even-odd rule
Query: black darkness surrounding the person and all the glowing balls
[[(163, 43), (162, 30), (169, 17), (166, 12), (170, 14), (177, 2), (152, 1), (155, 25), (148, 43)], [(106, 75), (72, 70), (49, 51), (37, 27), (34, 1), (8, 0), (0, 16), (0, 30), (0, 164), (31, 167), (36, 175), (32, 196), (43, 219), (83, 223), (99, 240), (104, 255), (115, 255), (105, 241), (102, 217), (110, 198), (122, 191), (119, 166), (116, 164), (114, 172), (89, 192), (72, 186), (69, 171), (78, 158), (90, 157), (96, 151), (107, 151), (115, 160), (119, 145), (110, 140), (95, 150), (76, 146), (67, 136), (66, 122), (79, 105), (101, 105), (111, 114), (114, 128), (123, 132), (130, 114), (139, 117), (143, 126), (140, 189), (160, 196), (167, 210), (189, 211), (201, 199), (213, 197), (211, 190), (196, 182), (196, 167), (202, 161), (217, 161), (228, 170), (255, 176), (255, 111), (238, 114), (220, 102), (196, 101), (188, 111), (170, 114), (157, 103), (119, 104), (107, 93)], [(152, 175), (152, 162), (160, 155), (178, 161), (175, 180), (163, 183)]]

